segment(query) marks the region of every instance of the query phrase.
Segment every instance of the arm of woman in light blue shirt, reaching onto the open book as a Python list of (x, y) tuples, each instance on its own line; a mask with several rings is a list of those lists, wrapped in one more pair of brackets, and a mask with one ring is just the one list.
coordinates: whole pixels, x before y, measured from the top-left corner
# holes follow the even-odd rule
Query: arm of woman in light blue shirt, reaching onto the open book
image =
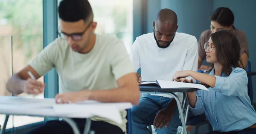
[(244, 69), (237, 67), (228, 77), (213, 76), (194, 71), (177, 71), (172, 80), (179, 81), (180, 78), (192, 78), (207, 84), (216, 92), (227, 96), (241, 96), (247, 94), (247, 73)]

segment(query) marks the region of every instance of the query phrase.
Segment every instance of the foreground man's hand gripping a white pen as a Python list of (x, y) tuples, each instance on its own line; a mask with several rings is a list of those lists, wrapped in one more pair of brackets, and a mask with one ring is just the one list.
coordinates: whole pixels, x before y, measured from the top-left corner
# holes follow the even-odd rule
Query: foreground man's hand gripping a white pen
[(26, 81), (23, 82), (23, 89), (22, 91), (27, 94), (39, 94), (44, 91), (45, 84), (40, 81), (33, 80), (28, 78)]

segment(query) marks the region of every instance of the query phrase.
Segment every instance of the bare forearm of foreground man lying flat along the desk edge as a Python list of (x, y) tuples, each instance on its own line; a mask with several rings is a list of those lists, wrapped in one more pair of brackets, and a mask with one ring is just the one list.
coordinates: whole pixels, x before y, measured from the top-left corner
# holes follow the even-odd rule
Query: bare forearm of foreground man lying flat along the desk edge
[[(87, 90), (84, 90), (87, 92)], [(137, 105), (140, 102), (140, 90), (138, 87), (120, 87), (110, 90), (90, 90), (89, 100), (101, 102), (131, 102)]]

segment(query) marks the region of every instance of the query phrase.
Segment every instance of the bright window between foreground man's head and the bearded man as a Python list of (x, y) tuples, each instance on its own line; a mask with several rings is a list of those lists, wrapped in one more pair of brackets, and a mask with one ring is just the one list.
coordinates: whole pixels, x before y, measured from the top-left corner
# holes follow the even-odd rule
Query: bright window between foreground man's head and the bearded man
[(130, 52), (133, 43), (133, 0), (88, 0), (93, 8), (95, 33), (117, 36)]

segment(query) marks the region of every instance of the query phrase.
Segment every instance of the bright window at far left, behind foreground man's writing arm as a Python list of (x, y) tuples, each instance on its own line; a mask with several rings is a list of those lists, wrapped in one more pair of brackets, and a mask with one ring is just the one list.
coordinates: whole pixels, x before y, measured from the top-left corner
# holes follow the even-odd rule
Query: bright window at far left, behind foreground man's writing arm
[[(11, 77), (11, 68), (13, 67), (13, 74), (17, 73), (43, 49), (42, 0), (0, 0), (0, 29), (0, 95), (11, 95), (5, 87)], [(40, 78), (39, 81), (43, 82), (44, 78)], [(40, 95), (23, 93), (19, 96), (44, 98), (43, 93)], [(0, 114), (1, 125), (4, 116)], [(6, 128), (43, 120), (43, 117), (10, 116)]]

